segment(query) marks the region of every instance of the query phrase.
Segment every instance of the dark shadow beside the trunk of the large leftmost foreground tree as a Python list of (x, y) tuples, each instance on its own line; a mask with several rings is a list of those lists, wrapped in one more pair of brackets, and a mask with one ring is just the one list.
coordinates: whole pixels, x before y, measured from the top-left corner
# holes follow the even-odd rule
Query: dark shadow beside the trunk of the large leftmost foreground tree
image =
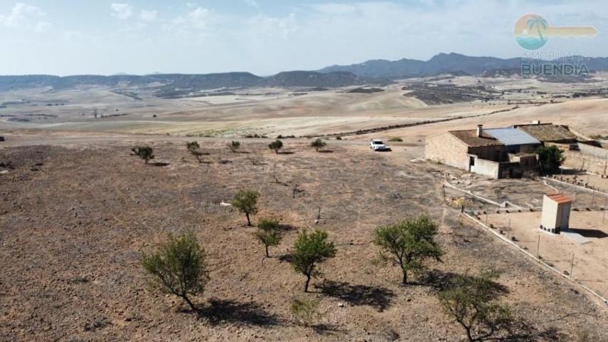
[(211, 299), (197, 314), (212, 325), (242, 323), (253, 326), (277, 326), (281, 322), (257, 303), (238, 303), (225, 299)]

